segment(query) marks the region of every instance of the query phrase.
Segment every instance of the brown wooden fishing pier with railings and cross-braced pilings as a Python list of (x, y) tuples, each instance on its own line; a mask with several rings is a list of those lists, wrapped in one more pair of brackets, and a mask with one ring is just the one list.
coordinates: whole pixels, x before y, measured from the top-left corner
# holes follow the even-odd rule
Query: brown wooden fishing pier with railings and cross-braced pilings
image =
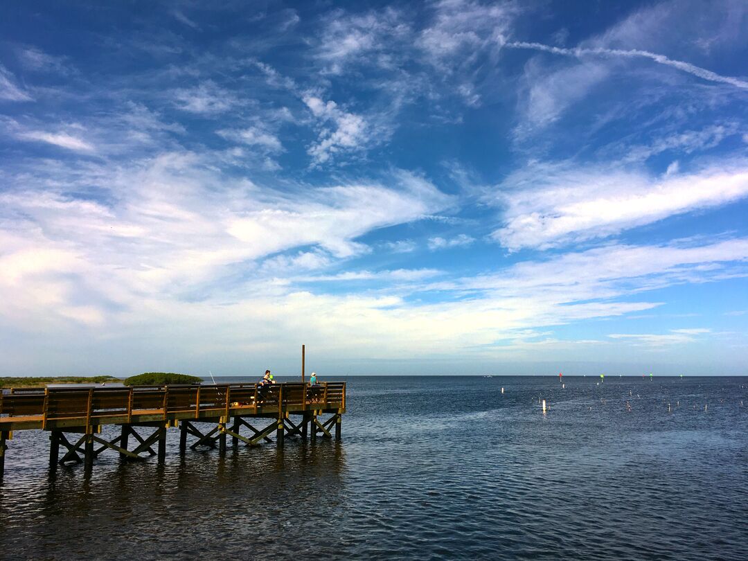
[[(315, 386), (287, 382), (264, 388), (258, 384), (16, 388), (0, 393), (0, 479), (6, 443), (20, 430), (49, 433), (51, 468), (76, 462), (91, 470), (93, 460), (105, 450), (114, 450), (123, 460), (140, 460), (147, 454), (165, 462), (166, 432), (177, 426), (180, 453), (186, 452), (189, 436), (196, 439), (189, 446), (192, 450), (218, 447), (221, 455), (226, 453), (228, 437), (233, 447), (239, 441), (259, 446), (272, 441), (275, 432), (276, 444), (282, 447), (286, 436), (305, 440), (309, 435), (313, 441), (317, 435), (333, 438), (334, 426), (334, 438), (340, 440), (345, 412), (346, 382)], [(264, 428), (253, 426), (268, 420)], [(196, 426), (206, 423), (207, 430)], [(106, 440), (101, 429), (111, 425), (119, 426), (120, 434)], [(138, 432), (143, 429), (153, 432), (144, 437)], [(245, 435), (242, 429), (247, 429)], [(129, 446), (130, 437), (135, 447)], [(61, 446), (67, 452), (60, 458)], [(156, 446), (158, 453), (153, 450)]]

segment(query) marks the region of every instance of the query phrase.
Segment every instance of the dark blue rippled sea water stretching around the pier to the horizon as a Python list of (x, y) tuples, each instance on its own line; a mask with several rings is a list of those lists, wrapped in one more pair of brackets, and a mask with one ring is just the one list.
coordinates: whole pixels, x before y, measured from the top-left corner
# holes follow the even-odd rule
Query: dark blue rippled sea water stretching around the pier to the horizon
[(165, 465), (87, 478), (17, 432), (0, 557), (748, 557), (748, 378), (348, 381), (340, 443), (182, 458), (172, 429)]

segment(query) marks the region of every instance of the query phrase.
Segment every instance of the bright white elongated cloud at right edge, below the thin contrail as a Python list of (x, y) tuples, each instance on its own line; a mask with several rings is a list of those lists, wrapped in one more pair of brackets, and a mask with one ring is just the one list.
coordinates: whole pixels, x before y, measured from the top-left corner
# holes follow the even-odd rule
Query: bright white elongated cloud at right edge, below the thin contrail
[(550, 248), (746, 196), (748, 168), (741, 163), (659, 179), (616, 170), (536, 165), (500, 186), (497, 203), (504, 208), (504, 225), (493, 236), (510, 250)]

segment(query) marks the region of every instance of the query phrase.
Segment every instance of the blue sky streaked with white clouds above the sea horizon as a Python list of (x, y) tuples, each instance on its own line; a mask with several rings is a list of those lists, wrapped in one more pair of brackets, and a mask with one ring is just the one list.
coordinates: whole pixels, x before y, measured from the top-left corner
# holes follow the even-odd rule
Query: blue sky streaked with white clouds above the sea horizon
[(0, 8), (0, 374), (748, 375), (748, 4)]

